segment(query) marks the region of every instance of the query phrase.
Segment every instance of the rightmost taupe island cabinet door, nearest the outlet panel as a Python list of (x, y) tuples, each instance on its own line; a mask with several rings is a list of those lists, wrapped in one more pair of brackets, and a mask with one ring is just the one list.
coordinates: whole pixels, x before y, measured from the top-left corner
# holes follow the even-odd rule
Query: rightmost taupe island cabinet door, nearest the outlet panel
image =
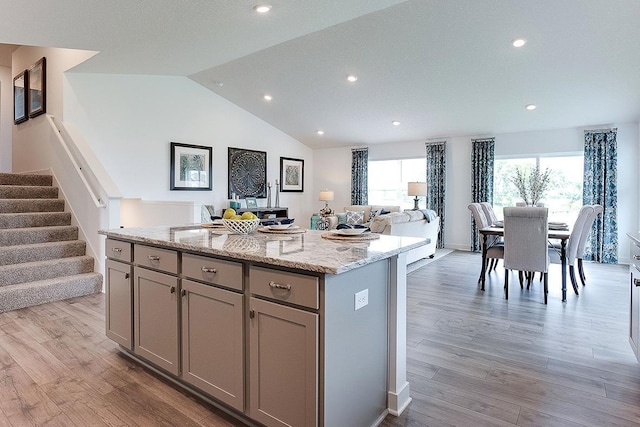
[(250, 417), (318, 425), (318, 315), (251, 298)]

